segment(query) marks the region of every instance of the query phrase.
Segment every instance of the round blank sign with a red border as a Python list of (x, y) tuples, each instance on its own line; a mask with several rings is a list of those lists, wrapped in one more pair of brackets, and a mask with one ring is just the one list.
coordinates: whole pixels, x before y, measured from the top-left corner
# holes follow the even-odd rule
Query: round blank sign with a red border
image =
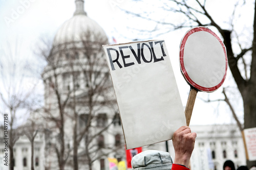
[(191, 86), (199, 91), (215, 91), (226, 78), (226, 47), (208, 28), (190, 29), (180, 44), (180, 67)]

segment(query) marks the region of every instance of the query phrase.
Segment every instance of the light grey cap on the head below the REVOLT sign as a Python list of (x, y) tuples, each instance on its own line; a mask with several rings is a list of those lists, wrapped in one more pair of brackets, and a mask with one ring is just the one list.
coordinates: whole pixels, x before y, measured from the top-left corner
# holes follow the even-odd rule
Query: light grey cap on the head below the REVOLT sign
[(148, 150), (135, 155), (131, 163), (134, 170), (170, 170), (173, 160), (168, 152)]

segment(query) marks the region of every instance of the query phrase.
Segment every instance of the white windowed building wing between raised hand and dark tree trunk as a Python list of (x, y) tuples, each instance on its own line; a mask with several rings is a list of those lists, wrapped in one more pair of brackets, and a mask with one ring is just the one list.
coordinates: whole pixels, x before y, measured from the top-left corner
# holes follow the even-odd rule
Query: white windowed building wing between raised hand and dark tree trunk
[(246, 165), (242, 134), (237, 125), (191, 126), (197, 133), (192, 169), (223, 169), (226, 160), (235, 167)]

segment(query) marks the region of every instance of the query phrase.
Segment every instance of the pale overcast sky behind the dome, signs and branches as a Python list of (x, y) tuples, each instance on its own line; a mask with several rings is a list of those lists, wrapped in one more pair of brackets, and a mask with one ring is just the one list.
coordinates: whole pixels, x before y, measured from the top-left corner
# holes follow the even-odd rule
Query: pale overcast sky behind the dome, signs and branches
[[(13, 43), (19, 39), (22, 42), (22, 50), (20, 56), (26, 56), (33, 60), (33, 51), (36, 49), (39, 37), (54, 38), (55, 33), (63, 22), (70, 19), (75, 11), (75, 0), (0, 0), (0, 47), (3, 47), (6, 41)], [(230, 2), (230, 1), (228, 1)], [(243, 2), (243, 1), (241, 1)], [(252, 1), (248, 8), (241, 8), (238, 12), (239, 19), (235, 23), (246, 21), (245, 26), (238, 27), (238, 30), (243, 32), (246, 27), (252, 26), (253, 8)], [(156, 4), (157, 6), (157, 4)], [(210, 12), (215, 16), (217, 21), (221, 21), (221, 25), (225, 29), (231, 29), (228, 23), (223, 22), (223, 18), (228, 18), (232, 13), (232, 6), (227, 4), (227, 1), (209, 1)], [(115, 37), (118, 43), (131, 41), (137, 38), (133, 32), (127, 32), (127, 27), (133, 27), (136, 23), (135, 18), (127, 19), (125, 14), (118, 8), (137, 9), (128, 0), (86, 0), (84, 9), (88, 16), (99, 23), (105, 30), (107, 35)], [(154, 12), (155, 8), (147, 7), (145, 9)], [(173, 16), (175, 18), (175, 16)], [(134, 20), (134, 22), (133, 22)], [(228, 19), (227, 19), (228, 20)], [(145, 26), (150, 28), (151, 26)], [(145, 29), (143, 28), (143, 29)], [(245, 34), (250, 33), (250, 30), (245, 31)], [(185, 34), (185, 30), (168, 33), (154, 39), (164, 39), (170, 55), (170, 60), (173, 65), (177, 84), (180, 90), (182, 103), (185, 106), (188, 98), (189, 86), (184, 81), (179, 68), (179, 45), (181, 38)], [(128, 37), (129, 39), (125, 39)], [(224, 86), (233, 86), (230, 71), (227, 73), (227, 80)], [(231, 84), (230, 84), (231, 83)], [(215, 98), (223, 98), (221, 90), (210, 94), (215, 94)], [(199, 92), (196, 100), (194, 112), (191, 118), (191, 125), (195, 124), (216, 124), (216, 123), (235, 123), (231, 118), (231, 113), (225, 103), (207, 104), (199, 98), (206, 98), (208, 93)], [(237, 94), (239, 99), (239, 93)], [(242, 106), (242, 100), (237, 100), (237, 105)], [(219, 111), (218, 108), (222, 108)], [(242, 107), (238, 108), (240, 118), (242, 119)]]

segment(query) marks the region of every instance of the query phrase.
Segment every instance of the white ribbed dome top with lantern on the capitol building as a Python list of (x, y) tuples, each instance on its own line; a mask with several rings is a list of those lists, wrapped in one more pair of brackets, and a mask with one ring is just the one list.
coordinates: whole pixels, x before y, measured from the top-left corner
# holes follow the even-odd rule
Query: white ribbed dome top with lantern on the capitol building
[(89, 40), (89, 37), (90, 41), (96, 41), (97, 39), (105, 41), (108, 39), (98, 23), (89, 18), (87, 13), (84, 12), (83, 3), (83, 0), (75, 1), (76, 11), (74, 16), (59, 28), (54, 37), (54, 45)]

